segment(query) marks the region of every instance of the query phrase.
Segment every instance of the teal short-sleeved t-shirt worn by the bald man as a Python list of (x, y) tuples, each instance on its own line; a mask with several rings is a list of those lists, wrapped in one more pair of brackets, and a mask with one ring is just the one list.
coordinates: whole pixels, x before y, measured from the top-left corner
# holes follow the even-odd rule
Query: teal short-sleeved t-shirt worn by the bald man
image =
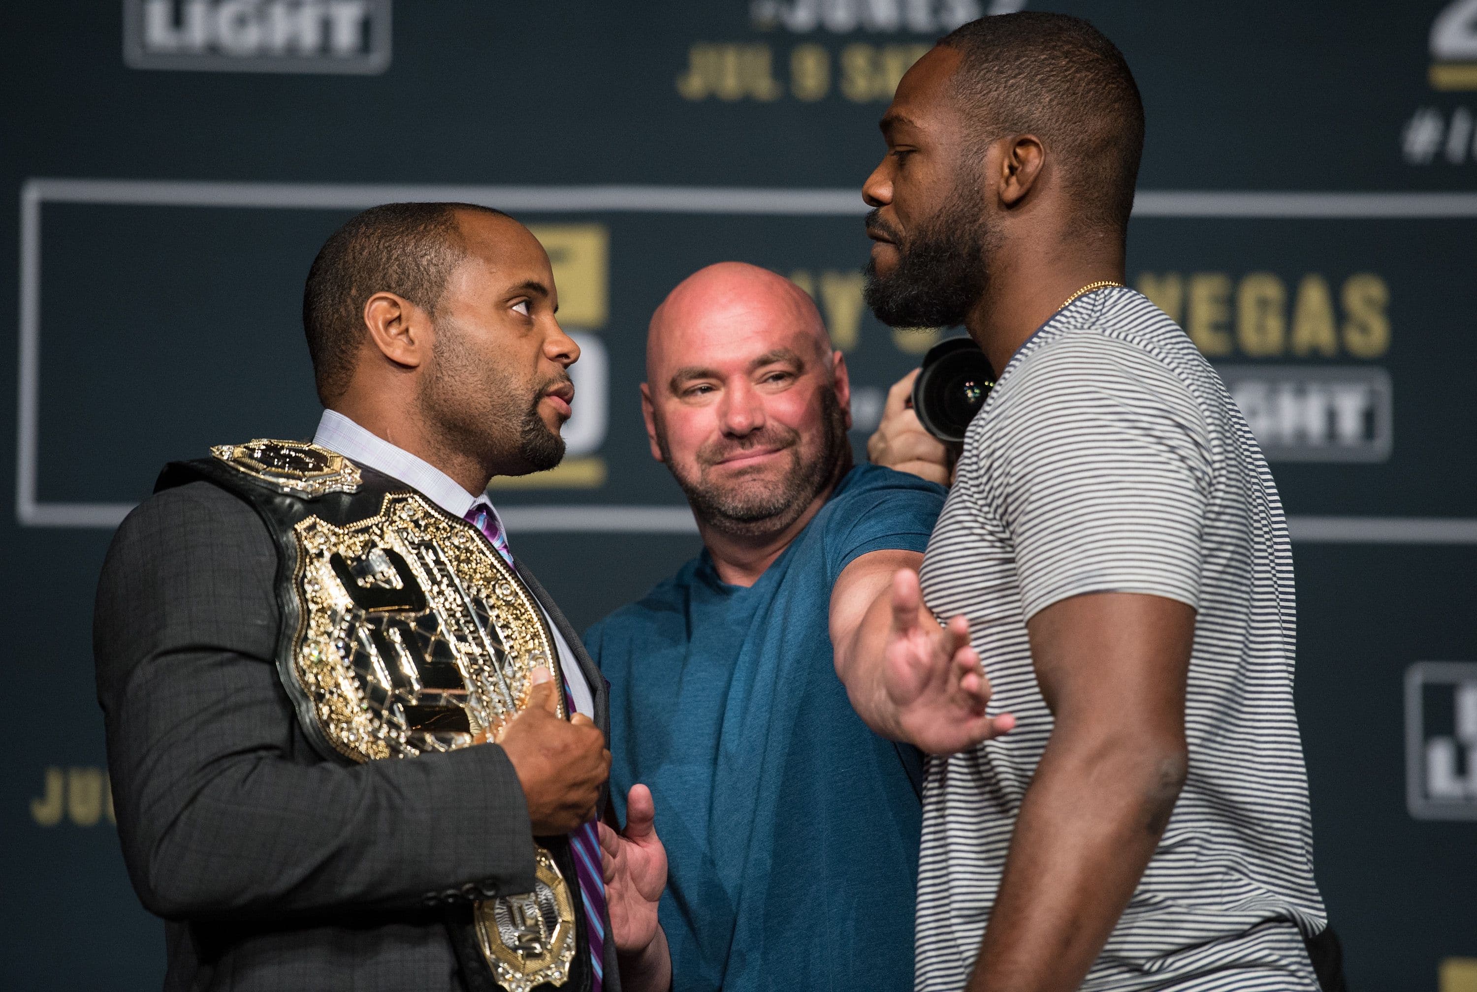
[(858, 465), (753, 586), (703, 552), (586, 632), (616, 809), (632, 782), (656, 800), (675, 992), (913, 988), (917, 754), (852, 712), (827, 614), (842, 568), (922, 552), (942, 505)]

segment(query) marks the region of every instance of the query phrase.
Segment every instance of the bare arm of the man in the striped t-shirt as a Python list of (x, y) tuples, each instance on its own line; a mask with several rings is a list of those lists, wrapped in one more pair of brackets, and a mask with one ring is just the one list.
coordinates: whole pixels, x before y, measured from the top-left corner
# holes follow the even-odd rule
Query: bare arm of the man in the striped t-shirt
[(1056, 717), (969, 989), (1066, 992), (1102, 952), (1185, 782), (1195, 611), (1089, 593), (1027, 624)]

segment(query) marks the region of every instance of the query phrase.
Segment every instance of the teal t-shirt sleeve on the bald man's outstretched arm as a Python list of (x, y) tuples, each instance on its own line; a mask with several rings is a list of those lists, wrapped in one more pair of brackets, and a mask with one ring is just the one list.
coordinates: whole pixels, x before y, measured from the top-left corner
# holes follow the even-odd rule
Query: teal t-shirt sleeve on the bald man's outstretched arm
[(933, 523), (944, 509), (944, 487), (877, 465), (827, 506), (826, 568), (836, 582), (852, 561), (873, 551), (928, 549)]

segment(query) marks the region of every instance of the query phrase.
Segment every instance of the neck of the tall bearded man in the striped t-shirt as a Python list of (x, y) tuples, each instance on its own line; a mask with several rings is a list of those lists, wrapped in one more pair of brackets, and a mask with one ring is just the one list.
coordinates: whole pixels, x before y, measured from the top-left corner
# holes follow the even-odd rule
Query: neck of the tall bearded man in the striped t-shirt
[(995, 252), (1000, 261), (990, 270), (985, 294), (964, 320), (995, 375), (1004, 372), (1010, 357), (1074, 292), (1093, 282), (1124, 282), (1121, 239), (1087, 247), (1092, 249), (1084, 251), (1081, 239), (1071, 247), (1062, 239), (1047, 239)]

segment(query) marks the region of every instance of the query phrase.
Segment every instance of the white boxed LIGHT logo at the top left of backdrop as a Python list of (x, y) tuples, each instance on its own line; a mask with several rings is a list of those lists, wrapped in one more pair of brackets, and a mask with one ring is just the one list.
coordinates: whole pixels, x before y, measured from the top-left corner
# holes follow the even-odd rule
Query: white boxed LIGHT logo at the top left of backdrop
[(384, 72), (390, 0), (124, 0), (134, 69)]

